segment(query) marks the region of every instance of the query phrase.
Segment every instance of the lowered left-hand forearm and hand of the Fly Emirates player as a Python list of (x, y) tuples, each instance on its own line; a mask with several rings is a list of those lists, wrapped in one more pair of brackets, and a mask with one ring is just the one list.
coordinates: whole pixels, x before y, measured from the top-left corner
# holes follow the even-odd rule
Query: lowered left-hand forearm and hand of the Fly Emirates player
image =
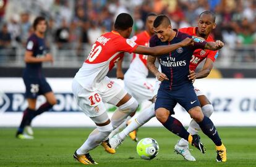
[(150, 70), (151, 73), (153, 73), (159, 81), (169, 80), (164, 73), (160, 73), (158, 68), (156, 68), (155, 61), (156, 61), (155, 56), (148, 55), (148, 59), (147, 59), (148, 70)]

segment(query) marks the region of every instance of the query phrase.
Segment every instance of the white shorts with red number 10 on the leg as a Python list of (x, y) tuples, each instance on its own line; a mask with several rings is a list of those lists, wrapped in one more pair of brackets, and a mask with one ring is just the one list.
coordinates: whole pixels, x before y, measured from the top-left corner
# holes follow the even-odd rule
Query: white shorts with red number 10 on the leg
[(96, 91), (88, 91), (73, 79), (72, 92), (79, 107), (85, 115), (89, 117), (103, 114), (106, 112), (104, 103), (117, 105), (127, 94), (127, 91), (125, 91), (124, 88), (107, 76), (98, 83), (98, 89)]

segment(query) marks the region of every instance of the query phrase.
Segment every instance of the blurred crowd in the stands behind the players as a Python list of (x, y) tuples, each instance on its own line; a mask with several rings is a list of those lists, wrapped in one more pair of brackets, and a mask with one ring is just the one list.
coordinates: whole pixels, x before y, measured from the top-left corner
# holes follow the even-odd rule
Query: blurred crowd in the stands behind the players
[(256, 62), (256, 0), (0, 0), (0, 59), (25, 46), (38, 15), (48, 19), (50, 48), (61, 55), (84, 57), (98, 36), (111, 31), (121, 12), (132, 15), (136, 34), (143, 30), (149, 12), (166, 14), (173, 28), (181, 28), (196, 26), (204, 10), (216, 13), (215, 39), (231, 49), (241, 48), (237, 51), (245, 56), (235, 59)]

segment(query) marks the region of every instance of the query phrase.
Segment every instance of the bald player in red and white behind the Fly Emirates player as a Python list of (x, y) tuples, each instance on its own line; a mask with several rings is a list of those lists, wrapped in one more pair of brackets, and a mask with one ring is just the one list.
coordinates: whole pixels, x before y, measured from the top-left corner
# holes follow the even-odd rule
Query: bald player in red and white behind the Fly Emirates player
[[(200, 14), (198, 19), (198, 26), (197, 27), (189, 27), (189, 28), (181, 28), (179, 31), (182, 33), (187, 33), (192, 36), (198, 36), (205, 41), (214, 41), (212, 36), (210, 35), (211, 31), (215, 28), (215, 14), (210, 11), (205, 11)], [(192, 59), (190, 60), (189, 68), (191, 70), (191, 74), (188, 76), (191, 80), (197, 78), (205, 78), (209, 75), (211, 69), (213, 68), (213, 63), (215, 62), (216, 57), (218, 56), (218, 51), (210, 51), (210, 50), (203, 50), (197, 49), (194, 51), (192, 55)], [(197, 68), (198, 64), (205, 60), (203, 68), (195, 73), (195, 69)], [(148, 68), (155, 67), (155, 60), (150, 60), (147, 62)], [(166, 76), (163, 73), (159, 73), (157, 78), (160, 81), (166, 79)], [(158, 84), (156, 84), (154, 94), (157, 94), (158, 91)], [(199, 89), (195, 88), (195, 93), (197, 94), (198, 100), (200, 101), (200, 105), (202, 107), (202, 112), (206, 116), (210, 116), (213, 113), (213, 105), (210, 104), (210, 101), (207, 99), (205, 94), (201, 92)], [(147, 123), (151, 118), (155, 116), (155, 104), (152, 104), (149, 108), (143, 110), (137, 118), (132, 121), (122, 132), (119, 132), (116, 136), (110, 139), (111, 146), (115, 149), (118, 145), (124, 141), (125, 137), (129, 134), (129, 132), (134, 131), (134, 129), (139, 128), (143, 124)], [(189, 124), (189, 129), (187, 131), (194, 135), (198, 134), (200, 131), (200, 127), (198, 124), (192, 120)], [(195, 158), (189, 152), (189, 143), (185, 139), (181, 139), (174, 147), (174, 150), (181, 154), (186, 160), (195, 161)]]

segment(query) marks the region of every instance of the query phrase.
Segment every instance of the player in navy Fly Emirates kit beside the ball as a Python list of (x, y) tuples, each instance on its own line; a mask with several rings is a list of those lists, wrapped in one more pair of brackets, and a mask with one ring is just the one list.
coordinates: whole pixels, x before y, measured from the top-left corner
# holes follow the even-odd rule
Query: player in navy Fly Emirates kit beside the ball
[[(151, 37), (150, 47), (179, 43), (179, 41), (187, 37), (195, 38), (194, 46), (179, 47), (179, 49), (169, 54), (159, 55), (158, 60), (161, 65), (161, 72), (157, 68), (150, 69), (156, 76), (161, 75), (158, 78), (163, 78), (155, 102), (156, 118), (166, 129), (186, 139), (202, 153), (205, 153), (205, 147), (200, 142), (200, 137), (189, 134), (181, 122), (171, 116), (173, 108), (179, 103), (198, 123), (203, 133), (215, 143), (216, 161), (226, 161), (226, 148), (221, 142), (213, 122), (203, 115), (192, 81), (187, 77), (189, 75), (189, 62), (195, 49), (215, 51), (221, 49), (224, 44), (221, 41), (216, 41), (216, 43), (205, 42), (194, 36), (173, 30), (169, 18), (165, 15), (158, 15), (153, 26), (156, 35)], [(148, 56), (148, 59), (151, 58)]]

